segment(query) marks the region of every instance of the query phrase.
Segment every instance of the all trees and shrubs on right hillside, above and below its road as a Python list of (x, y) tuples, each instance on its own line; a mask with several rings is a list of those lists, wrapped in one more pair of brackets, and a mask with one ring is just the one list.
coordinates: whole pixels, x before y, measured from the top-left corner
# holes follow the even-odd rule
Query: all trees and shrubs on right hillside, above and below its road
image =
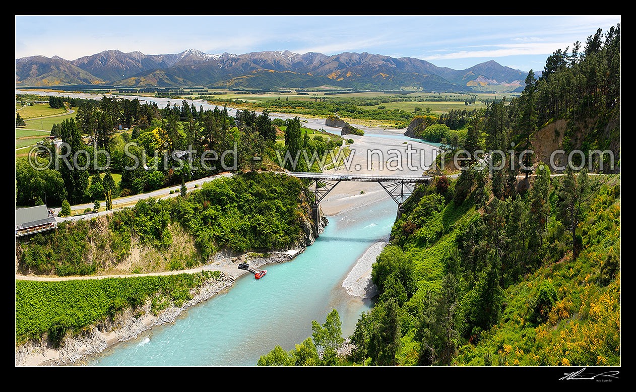
[[(468, 119), (453, 148), (531, 148), (542, 125), (565, 120), (561, 146), (619, 153), (620, 27), (602, 38), (598, 30), (583, 52), (579, 43), (555, 52), (521, 97)], [(433, 117), (422, 123), (431, 137), (450, 132)], [(537, 165), (520, 180), (503, 159), (492, 177), (473, 157), (458, 179), (413, 193), (373, 264), (377, 304), (359, 318), (352, 351), (321, 365), (621, 364), (620, 175), (568, 167), (551, 176)], [(287, 356), (302, 357), (309, 343)]]

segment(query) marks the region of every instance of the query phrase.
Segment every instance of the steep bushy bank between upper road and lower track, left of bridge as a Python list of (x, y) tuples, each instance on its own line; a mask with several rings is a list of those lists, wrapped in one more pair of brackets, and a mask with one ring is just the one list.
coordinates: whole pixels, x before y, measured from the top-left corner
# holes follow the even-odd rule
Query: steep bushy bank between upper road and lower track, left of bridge
[(139, 200), (131, 209), (90, 221), (67, 221), (17, 246), (20, 270), (59, 276), (113, 269), (127, 272), (192, 268), (221, 248), (280, 249), (305, 243), (310, 212), (300, 180), (251, 172), (205, 183), (167, 200)]

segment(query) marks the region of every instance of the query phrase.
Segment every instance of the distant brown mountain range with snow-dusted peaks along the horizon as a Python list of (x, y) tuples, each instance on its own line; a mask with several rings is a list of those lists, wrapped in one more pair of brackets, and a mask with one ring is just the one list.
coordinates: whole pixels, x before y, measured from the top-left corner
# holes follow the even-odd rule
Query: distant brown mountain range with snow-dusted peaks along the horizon
[(309, 52), (209, 54), (198, 50), (145, 55), (107, 50), (76, 60), (31, 56), (15, 60), (16, 87), (111, 85), (118, 87), (343, 88), (455, 92), (502, 85), (515, 90), (526, 74), (494, 60), (467, 69), (438, 67), (411, 57), (371, 53)]

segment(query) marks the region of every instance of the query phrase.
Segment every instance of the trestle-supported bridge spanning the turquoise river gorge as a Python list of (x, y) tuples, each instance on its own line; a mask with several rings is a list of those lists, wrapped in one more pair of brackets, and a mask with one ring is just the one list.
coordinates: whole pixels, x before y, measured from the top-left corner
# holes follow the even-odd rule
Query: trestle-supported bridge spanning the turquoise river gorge
[[(342, 181), (359, 181), (366, 183), (378, 183), (389, 193), (391, 199), (397, 204), (397, 218), (399, 219), (404, 212), (404, 202), (410, 195), (415, 192), (420, 184), (429, 184), (432, 176), (373, 176), (369, 174), (325, 174), (325, 173), (308, 173), (308, 172), (289, 172), (290, 176), (296, 178), (308, 179), (311, 185), (308, 186), (306, 192), (312, 192), (314, 195), (314, 205), (312, 206), (312, 218), (314, 218), (315, 227), (319, 222), (319, 204), (333, 188)], [(317, 234), (316, 234), (317, 235)]]

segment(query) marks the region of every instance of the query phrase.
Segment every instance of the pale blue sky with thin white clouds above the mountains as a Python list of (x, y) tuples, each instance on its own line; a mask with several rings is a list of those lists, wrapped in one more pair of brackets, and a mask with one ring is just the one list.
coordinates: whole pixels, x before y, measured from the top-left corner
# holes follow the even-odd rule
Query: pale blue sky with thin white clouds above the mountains
[(16, 16), (15, 57), (74, 60), (102, 50), (146, 54), (370, 52), (465, 69), (487, 60), (528, 71), (619, 16)]

